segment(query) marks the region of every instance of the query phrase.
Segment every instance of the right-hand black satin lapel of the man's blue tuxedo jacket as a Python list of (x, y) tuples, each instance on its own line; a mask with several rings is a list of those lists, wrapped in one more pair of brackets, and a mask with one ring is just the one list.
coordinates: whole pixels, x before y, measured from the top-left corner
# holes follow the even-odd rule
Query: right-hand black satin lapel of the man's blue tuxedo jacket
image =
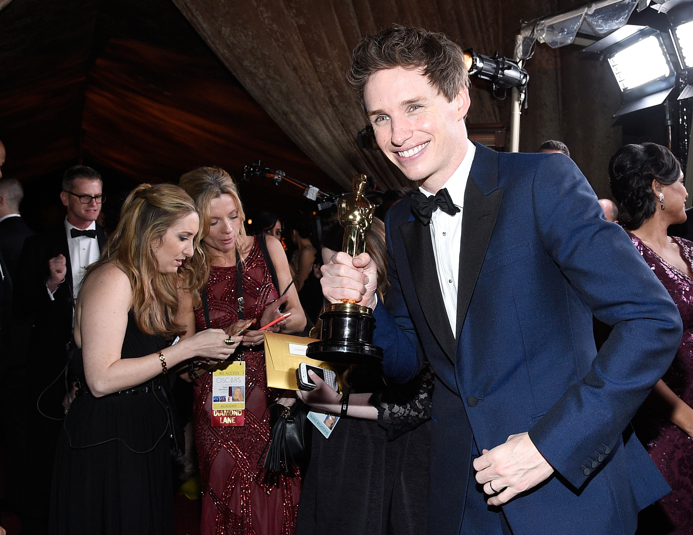
[(457, 278), (457, 340), (462, 332), (474, 287), (486, 249), (498, 219), (503, 190), (498, 188), (484, 197), (476, 181), (470, 175), (464, 189), (462, 210), (462, 243), (459, 246), (459, 276)]

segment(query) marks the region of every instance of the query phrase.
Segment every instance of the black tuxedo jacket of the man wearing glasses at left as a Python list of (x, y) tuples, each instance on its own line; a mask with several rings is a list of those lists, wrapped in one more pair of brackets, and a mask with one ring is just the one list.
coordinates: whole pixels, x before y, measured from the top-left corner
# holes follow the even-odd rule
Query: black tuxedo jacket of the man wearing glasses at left
[[(99, 251), (103, 251), (106, 235), (103, 227), (96, 225)], [(64, 255), (67, 261), (65, 282), (53, 294), (46, 290), (46, 278), (50, 276), (49, 260)], [(67, 234), (63, 221), (43, 234), (28, 237), (19, 258), (17, 282), (13, 284), (15, 299), (12, 313), (15, 322), (23, 326), (26, 334), (39, 336), (49, 344), (64, 347), (72, 337), (72, 265)]]

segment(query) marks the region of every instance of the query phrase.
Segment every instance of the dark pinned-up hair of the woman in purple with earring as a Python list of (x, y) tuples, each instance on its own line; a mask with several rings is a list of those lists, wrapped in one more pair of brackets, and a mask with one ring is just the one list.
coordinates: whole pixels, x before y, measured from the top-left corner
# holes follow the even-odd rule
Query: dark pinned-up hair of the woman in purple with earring
[(662, 145), (642, 143), (618, 149), (608, 163), (608, 178), (623, 226), (636, 230), (654, 215), (657, 197), (653, 180), (669, 185), (679, 176), (681, 163)]

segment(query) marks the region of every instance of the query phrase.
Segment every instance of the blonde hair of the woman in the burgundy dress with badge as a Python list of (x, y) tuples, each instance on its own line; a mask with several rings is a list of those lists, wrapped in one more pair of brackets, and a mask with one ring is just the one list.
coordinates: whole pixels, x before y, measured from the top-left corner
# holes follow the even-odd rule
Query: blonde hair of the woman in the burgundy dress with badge
[(238, 228), (238, 237), (234, 240), (234, 251), (240, 255), (243, 262), (243, 246), (246, 241), (245, 212), (243, 211), (243, 203), (240, 202), (238, 196), (238, 188), (234, 179), (223, 170), (221, 167), (198, 167), (194, 171), (187, 172), (180, 177), (178, 181), (180, 187), (183, 188), (190, 197), (195, 201), (198, 214), (200, 214), (200, 254), (195, 252), (195, 256), (191, 258), (193, 269), (200, 274), (202, 280), (207, 282), (209, 277), (209, 262), (207, 262), (207, 245), (202, 240), (209, 234), (209, 206), (213, 199), (218, 199), (224, 194), (231, 195), (236, 201), (238, 207), (238, 217), (241, 221)]

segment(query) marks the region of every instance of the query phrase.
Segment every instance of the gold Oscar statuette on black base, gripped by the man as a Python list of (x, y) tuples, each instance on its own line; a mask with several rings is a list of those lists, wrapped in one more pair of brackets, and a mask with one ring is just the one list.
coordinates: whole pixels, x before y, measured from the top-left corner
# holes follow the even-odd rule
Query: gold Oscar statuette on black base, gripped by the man
[[(353, 177), (353, 192), (337, 204), (344, 227), (342, 250), (352, 257), (366, 250), (366, 232), (376, 207), (366, 199), (366, 175)], [(308, 344), (306, 356), (324, 362), (362, 363), (383, 360), (383, 350), (373, 345), (376, 323), (373, 311), (351, 300), (333, 303), (320, 311), (320, 341)]]

